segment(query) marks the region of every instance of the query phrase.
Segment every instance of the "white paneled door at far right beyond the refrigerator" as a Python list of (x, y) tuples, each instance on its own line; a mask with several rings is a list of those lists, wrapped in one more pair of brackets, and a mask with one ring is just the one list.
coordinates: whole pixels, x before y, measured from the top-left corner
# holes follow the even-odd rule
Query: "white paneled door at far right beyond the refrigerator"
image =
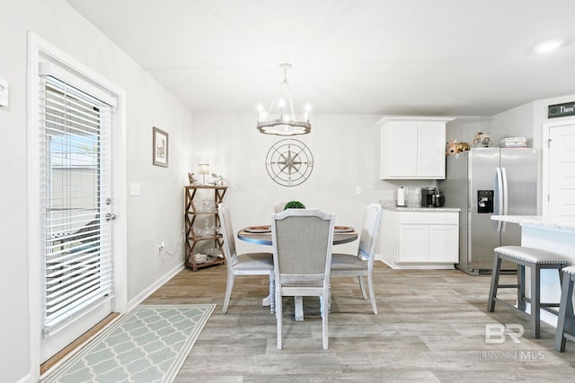
[(548, 135), (546, 213), (575, 217), (575, 124), (549, 126)]

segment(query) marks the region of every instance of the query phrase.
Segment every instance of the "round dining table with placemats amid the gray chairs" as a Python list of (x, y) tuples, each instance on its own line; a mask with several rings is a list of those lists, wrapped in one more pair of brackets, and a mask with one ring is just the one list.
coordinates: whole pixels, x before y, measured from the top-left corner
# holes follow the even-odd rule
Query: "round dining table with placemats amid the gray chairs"
[[(333, 231), (333, 245), (342, 245), (344, 243), (353, 242), (358, 239), (358, 232), (351, 226), (336, 225)], [(253, 243), (256, 245), (271, 246), (271, 226), (270, 225), (255, 225), (247, 226), (237, 232), (237, 238), (245, 242)], [(271, 297), (268, 295), (261, 301), (262, 306), (270, 306)], [(296, 321), (301, 322), (304, 320), (304, 300), (301, 296), (294, 297)]]

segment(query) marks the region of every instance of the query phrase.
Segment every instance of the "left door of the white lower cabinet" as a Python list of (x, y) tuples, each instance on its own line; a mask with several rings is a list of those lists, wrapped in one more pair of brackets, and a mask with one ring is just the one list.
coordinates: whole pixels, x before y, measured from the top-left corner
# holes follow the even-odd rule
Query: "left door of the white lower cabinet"
[(428, 237), (427, 225), (399, 225), (397, 263), (428, 262)]

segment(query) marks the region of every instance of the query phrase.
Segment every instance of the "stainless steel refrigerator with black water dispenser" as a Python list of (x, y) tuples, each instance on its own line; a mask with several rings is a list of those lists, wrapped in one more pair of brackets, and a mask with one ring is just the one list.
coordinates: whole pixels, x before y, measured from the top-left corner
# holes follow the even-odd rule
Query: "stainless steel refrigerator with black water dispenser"
[[(447, 156), (446, 167), (446, 179), (438, 187), (447, 207), (461, 209), (456, 267), (468, 274), (491, 274), (493, 248), (521, 241), (519, 225), (491, 221), (491, 215), (536, 214), (536, 151), (473, 148)], [(508, 263), (502, 270), (517, 267)]]

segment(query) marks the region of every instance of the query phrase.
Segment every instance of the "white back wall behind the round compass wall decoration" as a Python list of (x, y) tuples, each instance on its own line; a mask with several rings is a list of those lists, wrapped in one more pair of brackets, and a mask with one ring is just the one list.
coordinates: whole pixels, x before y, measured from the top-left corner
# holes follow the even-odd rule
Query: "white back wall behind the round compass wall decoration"
[[(360, 227), (363, 208), (382, 198), (375, 156), (378, 118), (313, 116), (312, 133), (294, 138), (311, 150), (314, 170), (303, 184), (283, 187), (270, 178), (265, 160), (271, 145), (284, 137), (262, 135), (255, 114), (194, 114), (190, 171), (207, 160), (212, 171), (224, 176), (235, 230), (270, 222), (272, 204), (288, 200), (336, 213), (337, 224)], [(242, 242), (237, 246), (240, 251), (258, 249)], [(340, 249), (355, 251), (357, 244)]]

